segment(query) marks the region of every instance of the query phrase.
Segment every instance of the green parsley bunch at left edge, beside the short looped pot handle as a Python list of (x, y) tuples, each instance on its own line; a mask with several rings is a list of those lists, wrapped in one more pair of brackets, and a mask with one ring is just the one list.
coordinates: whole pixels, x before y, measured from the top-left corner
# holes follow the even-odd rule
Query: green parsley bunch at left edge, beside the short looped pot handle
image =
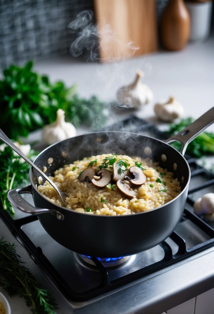
[[(30, 154), (33, 153), (31, 150)], [(22, 158), (8, 146), (0, 151), (0, 202), (9, 214), (14, 214), (14, 209), (8, 201), (7, 192), (24, 184), (28, 179), (30, 166), (22, 161)]]

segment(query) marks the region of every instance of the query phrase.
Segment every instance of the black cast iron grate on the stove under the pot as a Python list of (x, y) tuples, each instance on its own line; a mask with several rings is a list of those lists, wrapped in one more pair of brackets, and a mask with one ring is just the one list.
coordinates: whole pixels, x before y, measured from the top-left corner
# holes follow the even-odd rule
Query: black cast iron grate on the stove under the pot
[[(122, 126), (122, 129), (121, 129)], [(130, 119), (126, 119), (120, 124), (120, 128), (118, 129), (118, 125), (110, 126), (105, 128), (106, 131), (128, 131), (133, 133), (149, 133), (150, 136), (156, 137), (159, 139), (167, 138), (164, 133), (159, 131), (154, 125), (149, 124), (141, 119), (136, 117), (131, 117)], [(190, 188), (187, 197), (187, 204), (190, 204), (190, 207), (194, 203), (194, 199), (192, 195), (204, 189), (205, 187), (212, 187), (214, 185), (214, 175), (209, 173), (206, 169), (201, 167), (196, 163), (196, 160), (191, 158), (190, 156), (186, 156), (185, 158), (188, 160), (191, 169), (191, 177), (194, 178), (198, 175), (205, 177), (206, 183), (200, 184), (199, 186), (194, 186), (194, 188)], [(191, 181), (191, 180), (190, 180)], [(202, 230), (209, 239), (204, 241), (203, 243), (199, 243), (193, 247), (187, 248), (185, 239), (179, 235), (178, 232), (174, 231), (169, 238), (178, 246), (178, 250), (176, 253), (173, 253), (173, 249), (167, 241), (163, 241), (159, 245), (163, 248), (164, 257), (156, 262), (138, 269), (132, 273), (123, 275), (120, 278), (110, 280), (110, 276), (108, 273), (108, 269), (103, 266), (103, 264), (96, 258), (91, 257), (93, 262), (95, 263), (97, 269), (100, 273), (100, 284), (92, 289), (89, 289), (84, 292), (77, 292), (71, 289), (69, 284), (65, 282), (65, 280), (61, 277), (61, 275), (57, 272), (57, 269), (53, 267), (49, 259), (45, 256), (44, 252), (39, 246), (35, 246), (34, 243), (30, 240), (30, 238), (24, 233), (22, 230), (22, 226), (29, 224), (33, 221), (36, 221), (37, 216), (27, 216), (20, 219), (12, 219), (10, 215), (0, 210), (0, 216), (14, 234), (21, 241), (21, 243), (25, 246), (27, 251), (30, 253), (31, 257), (34, 261), (40, 265), (41, 269), (44, 273), (47, 274), (49, 279), (55, 284), (55, 286), (61, 291), (61, 293), (67, 297), (68, 300), (72, 301), (84, 301), (91, 299), (97, 295), (100, 295), (104, 292), (107, 292), (111, 289), (114, 289), (118, 286), (127, 284), (135, 279), (142, 278), (144, 275), (157, 271), (158, 269), (164, 268), (172, 263), (176, 263), (186, 257), (190, 257), (194, 254), (197, 254), (207, 248), (214, 246), (214, 229), (206, 224), (203, 220), (197, 217), (193, 212), (185, 207), (183, 216), (181, 218), (181, 222), (185, 220), (190, 220), (194, 223), (200, 230)]]

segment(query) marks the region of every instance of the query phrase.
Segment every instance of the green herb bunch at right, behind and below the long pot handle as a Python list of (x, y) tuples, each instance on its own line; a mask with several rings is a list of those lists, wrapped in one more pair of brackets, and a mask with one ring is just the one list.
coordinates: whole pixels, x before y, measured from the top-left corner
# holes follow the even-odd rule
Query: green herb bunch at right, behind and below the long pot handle
[[(191, 117), (181, 119), (177, 124), (170, 124), (167, 134), (174, 135), (188, 127), (193, 122)], [(171, 144), (180, 151), (181, 143), (174, 142)], [(207, 154), (214, 154), (214, 134), (211, 132), (203, 132), (199, 134), (192, 142), (189, 143), (186, 150), (187, 154), (193, 157), (201, 158)]]

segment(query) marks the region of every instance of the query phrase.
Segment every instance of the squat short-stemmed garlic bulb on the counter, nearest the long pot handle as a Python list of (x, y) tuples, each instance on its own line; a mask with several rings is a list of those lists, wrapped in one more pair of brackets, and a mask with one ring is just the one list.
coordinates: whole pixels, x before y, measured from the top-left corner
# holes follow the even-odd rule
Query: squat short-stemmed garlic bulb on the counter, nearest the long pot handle
[(173, 120), (183, 116), (183, 106), (174, 99), (169, 97), (169, 100), (161, 100), (154, 106), (154, 111), (158, 118), (166, 122), (172, 122)]

